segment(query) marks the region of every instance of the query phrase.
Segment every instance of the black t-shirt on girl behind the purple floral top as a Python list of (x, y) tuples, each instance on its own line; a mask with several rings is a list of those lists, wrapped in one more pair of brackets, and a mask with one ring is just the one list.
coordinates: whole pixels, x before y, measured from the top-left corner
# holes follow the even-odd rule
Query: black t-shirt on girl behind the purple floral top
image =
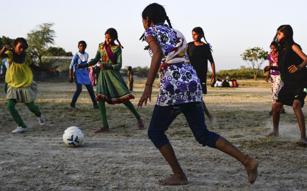
[(208, 60), (210, 63), (214, 62), (210, 47), (208, 44), (196, 46), (193, 42), (188, 43), (188, 56), (193, 68), (196, 70), (197, 77), (200, 82), (207, 81)]

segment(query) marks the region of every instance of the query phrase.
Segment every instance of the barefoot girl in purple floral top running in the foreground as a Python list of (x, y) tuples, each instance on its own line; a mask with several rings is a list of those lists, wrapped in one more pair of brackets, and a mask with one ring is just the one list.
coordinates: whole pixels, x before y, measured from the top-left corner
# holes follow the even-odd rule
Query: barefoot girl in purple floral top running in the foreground
[[(173, 170), (169, 178), (158, 180), (161, 185), (185, 185), (188, 179), (183, 172), (165, 131), (173, 120), (183, 113), (195, 139), (203, 146), (217, 148), (233, 156), (246, 168), (247, 183), (253, 184), (258, 176), (258, 160), (244, 155), (220, 135), (210, 132), (205, 125), (202, 91), (196, 71), (187, 55), (185, 37), (173, 29), (163, 6), (153, 3), (142, 12), (144, 39), (152, 57), (150, 71), (138, 107), (151, 101), (152, 84), (159, 71), (160, 92), (154, 107), (148, 137), (159, 149)], [(165, 20), (167, 24), (165, 24)]]

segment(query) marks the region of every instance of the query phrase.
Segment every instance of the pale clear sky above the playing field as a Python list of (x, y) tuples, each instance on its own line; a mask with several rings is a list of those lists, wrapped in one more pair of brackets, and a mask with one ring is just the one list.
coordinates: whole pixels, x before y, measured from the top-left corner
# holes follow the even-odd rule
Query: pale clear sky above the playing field
[[(307, 49), (307, 2), (303, 0), (5, 1), (0, 6), (0, 36), (26, 38), (37, 25), (54, 23), (56, 38), (52, 46), (74, 54), (78, 42), (84, 40), (91, 59), (99, 43), (104, 42), (106, 30), (115, 28), (124, 47), (122, 67), (149, 67), (151, 58), (143, 50), (147, 44), (138, 39), (145, 31), (142, 11), (153, 2), (165, 7), (173, 28), (181, 31), (188, 42), (192, 41), (194, 27), (203, 28), (206, 40), (212, 45), (216, 71), (248, 67), (240, 54), (252, 47), (270, 51), (276, 30), (283, 24), (292, 26), (294, 41), (303, 52)], [(264, 66), (267, 64), (266, 61)], [(210, 66), (208, 69), (212, 71)]]

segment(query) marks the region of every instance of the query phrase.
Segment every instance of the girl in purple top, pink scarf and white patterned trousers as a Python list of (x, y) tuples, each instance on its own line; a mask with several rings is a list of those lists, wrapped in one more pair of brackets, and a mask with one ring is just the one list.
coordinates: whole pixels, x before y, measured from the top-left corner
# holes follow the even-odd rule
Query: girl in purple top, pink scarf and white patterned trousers
[[(270, 45), (271, 53), (268, 56), (269, 60), (269, 66), (278, 66), (277, 59), (278, 59), (278, 43), (273, 41)], [(273, 116), (273, 106), (276, 103), (276, 98), (278, 96), (278, 92), (284, 85), (284, 82), (281, 80), (279, 71), (276, 70), (270, 70), (268, 72), (268, 75), (266, 77), (266, 82), (270, 79), (271, 81), (271, 94), (272, 94), (272, 109), (269, 112), (270, 117)], [(282, 107), (282, 110), (280, 111), (281, 114), (285, 114), (286, 111), (284, 107)]]

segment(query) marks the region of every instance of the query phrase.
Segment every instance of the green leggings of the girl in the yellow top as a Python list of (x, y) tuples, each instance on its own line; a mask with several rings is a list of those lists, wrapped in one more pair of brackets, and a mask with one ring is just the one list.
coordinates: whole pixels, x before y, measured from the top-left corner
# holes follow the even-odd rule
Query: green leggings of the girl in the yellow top
[[(7, 110), (9, 110), (10, 114), (12, 115), (15, 122), (18, 124), (18, 127), (26, 128), (27, 126), (22, 121), (18, 111), (15, 109), (15, 105), (18, 103), (16, 99), (7, 99)], [(29, 110), (36, 115), (36, 117), (41, 116), (41, 111), (39, 108), (34, 104), (34, 101), (30, 103), (25, 103), (25, 105), (29, 108)]]

